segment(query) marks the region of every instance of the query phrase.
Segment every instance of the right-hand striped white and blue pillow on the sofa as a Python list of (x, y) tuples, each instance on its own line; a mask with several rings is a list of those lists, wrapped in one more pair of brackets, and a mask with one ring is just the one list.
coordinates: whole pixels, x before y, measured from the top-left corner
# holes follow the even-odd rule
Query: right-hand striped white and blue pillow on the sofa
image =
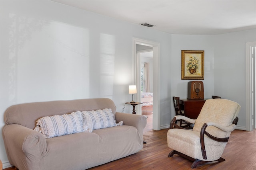
[(118, 125), (114, 120), (111, 109), (98, 109), (91, 111), (82, 111), (84, 124), (88, 129), (102, 129)]

